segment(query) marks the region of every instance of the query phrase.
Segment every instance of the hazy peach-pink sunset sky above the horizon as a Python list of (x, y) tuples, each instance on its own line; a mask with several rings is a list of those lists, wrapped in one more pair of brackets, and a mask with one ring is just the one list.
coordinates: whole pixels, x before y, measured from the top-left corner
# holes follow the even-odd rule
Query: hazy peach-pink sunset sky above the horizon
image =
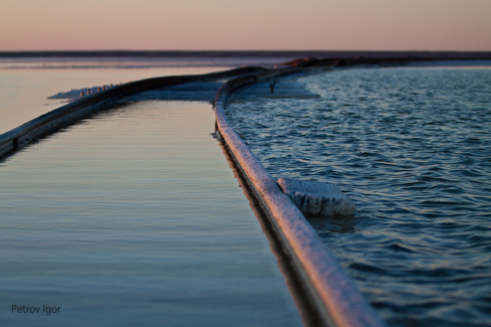
[(0, 51), (491, 51), (491, 0), (0, 0)]

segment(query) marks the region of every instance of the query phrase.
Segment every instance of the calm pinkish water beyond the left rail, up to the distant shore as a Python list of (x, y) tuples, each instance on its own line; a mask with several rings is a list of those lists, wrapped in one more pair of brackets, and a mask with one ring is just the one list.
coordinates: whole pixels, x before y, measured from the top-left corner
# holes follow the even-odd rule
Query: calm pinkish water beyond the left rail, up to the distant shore
[(85, 57), (0, 58), (0, 134), (61, 107), (58, 92), (105, 84), (186, 74), (205, 74), (243, 65), (273, 66), (290, 57)]

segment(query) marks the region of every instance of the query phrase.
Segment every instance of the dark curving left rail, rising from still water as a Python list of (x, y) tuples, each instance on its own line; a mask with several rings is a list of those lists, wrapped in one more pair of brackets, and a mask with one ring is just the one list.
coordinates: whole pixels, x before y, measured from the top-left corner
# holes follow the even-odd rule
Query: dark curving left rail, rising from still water
[(176, 85), (186, 82), (213, 81), (252, 72), (265, 71), (267, 71), (267, 69), (262, 67), (244, 67), (204, 75), (158, 77), (118, 85), (101, 92), (87, 95), (0, 135), (0, 157), (27, 145), (32, 140), (52, 133), (59, 128), (71, 125), (90, 113), (104, 109), (115, 100), (124, 96), (167, 85)]

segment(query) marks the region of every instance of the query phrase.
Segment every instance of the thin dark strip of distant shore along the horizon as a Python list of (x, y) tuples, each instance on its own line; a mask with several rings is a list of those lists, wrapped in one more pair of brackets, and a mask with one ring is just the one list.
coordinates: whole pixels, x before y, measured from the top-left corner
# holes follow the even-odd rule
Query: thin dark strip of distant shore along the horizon
[(491, 51), (2, 51), (0, 58), (27, 57), (319, 57), (491, 60)]

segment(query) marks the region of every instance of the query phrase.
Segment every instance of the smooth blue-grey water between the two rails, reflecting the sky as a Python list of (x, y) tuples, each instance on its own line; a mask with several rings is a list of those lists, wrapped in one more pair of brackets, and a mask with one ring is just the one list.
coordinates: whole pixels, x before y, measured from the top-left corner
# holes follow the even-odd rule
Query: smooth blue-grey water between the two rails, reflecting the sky
[(137, 102), (3, 162), (4, 326), (301, 326), (214, 117)]

